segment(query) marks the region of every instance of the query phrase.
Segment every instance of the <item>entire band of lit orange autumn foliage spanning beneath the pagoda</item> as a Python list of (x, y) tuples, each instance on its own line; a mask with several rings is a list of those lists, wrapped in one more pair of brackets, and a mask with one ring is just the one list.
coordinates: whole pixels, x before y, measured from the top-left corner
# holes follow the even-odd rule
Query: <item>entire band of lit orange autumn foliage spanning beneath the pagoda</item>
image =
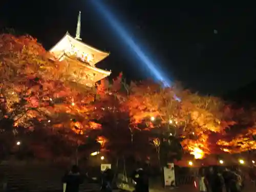
[(53, 134), (61, 132), (71, 144), (82, 144), (97, 133), (106, 151), (147, 157), (154, 149), (151, 138), (162, 142), (161, 135), (171, 133), (182, 136), (181, 144), (191, 154), (195, 149), (215, 153), (218, 140), (224, 152), (256, 148), (254, 129), (231, 141), (225, 138), (228, 134), (219, 138), (236, 124), (220, 98), (164, 88), (153, 81), (126, 84), (122, 73), (113, 83), (103, 79), (96, 90), (87, 89), (73, 82), (66, 63), (54, 60), (31, 36), (0, 35), (0, 82), (1, 120), (12, 119), (12, 126), (30, 130), (40, 126)]

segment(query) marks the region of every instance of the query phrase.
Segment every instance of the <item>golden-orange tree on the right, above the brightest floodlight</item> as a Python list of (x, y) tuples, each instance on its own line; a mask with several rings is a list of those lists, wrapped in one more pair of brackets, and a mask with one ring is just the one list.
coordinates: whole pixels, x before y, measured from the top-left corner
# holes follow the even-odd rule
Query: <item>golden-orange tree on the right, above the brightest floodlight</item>
[[(212, 145), (217, 142), (218, 133), (234, 124), (229, 106), (220, 98), (199, 96), (188, 91), (183, 91), (181, 100), (184, 149), (194, 152), (195, 148), (200, 148), (202, 154), (214, 153)], [(213, 136), (211, 139), (210, 135)]]

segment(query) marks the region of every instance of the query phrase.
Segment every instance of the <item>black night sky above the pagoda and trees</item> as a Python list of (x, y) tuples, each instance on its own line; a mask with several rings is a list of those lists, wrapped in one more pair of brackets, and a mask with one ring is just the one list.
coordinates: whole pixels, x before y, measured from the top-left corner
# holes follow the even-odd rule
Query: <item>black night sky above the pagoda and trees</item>
[[(37, 37), (46, 49), (69, 31), (75, 35), (82, 11), (82, 40), (111, 52), (98, 67), (123, 71), (131, 79), (145, 78), (145, 68), (127, 51), (115, 30), (93, 9), (103, 1), (143, 44), (172, 80), (201, 93), (221, 94), (256, 79), (255, 13), (252, 5), (151, 0), (3, 1), (0, 27)], [(180, 2), (180, 3), (177, 3)], [(214, 33), (218, 31), (218, 34)]]

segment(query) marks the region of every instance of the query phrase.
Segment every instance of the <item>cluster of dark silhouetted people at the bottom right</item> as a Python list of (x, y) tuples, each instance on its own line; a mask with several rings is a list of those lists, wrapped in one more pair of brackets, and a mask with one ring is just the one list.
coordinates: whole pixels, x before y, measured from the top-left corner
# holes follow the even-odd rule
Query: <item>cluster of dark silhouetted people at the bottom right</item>
[(198, 189), (202, 192), (241, 192), (244, 181), (238, 167), (202, 167), (198, 174)]

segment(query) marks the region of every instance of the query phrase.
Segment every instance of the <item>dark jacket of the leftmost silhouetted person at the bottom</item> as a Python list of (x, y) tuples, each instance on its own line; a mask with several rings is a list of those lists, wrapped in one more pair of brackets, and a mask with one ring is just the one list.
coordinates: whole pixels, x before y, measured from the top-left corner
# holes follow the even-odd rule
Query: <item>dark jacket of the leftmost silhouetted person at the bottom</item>
[(79, 185), (83, 183), (83, 178), (79, 173), (66, 174), (62, 178), (63, 183), (67, 183), (66, 192), (79, 192)]

